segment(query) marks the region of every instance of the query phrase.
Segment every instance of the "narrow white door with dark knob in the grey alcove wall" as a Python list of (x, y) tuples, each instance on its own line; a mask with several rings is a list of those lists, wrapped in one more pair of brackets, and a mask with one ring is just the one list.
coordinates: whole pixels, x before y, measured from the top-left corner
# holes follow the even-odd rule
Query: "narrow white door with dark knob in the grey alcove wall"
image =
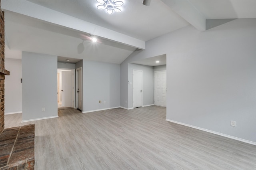
[(142, 107), (142, 71), (133, 71), (133, 108)]

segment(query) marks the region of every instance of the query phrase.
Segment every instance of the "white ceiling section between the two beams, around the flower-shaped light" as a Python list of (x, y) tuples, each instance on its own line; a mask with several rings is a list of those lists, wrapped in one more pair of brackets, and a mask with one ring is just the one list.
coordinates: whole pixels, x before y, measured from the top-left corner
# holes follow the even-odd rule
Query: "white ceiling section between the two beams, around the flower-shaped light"
[(99, 4), (96, 0), (31, 2), (143, 41), (189, 25), (160, 0), (152, 0), (150, 6), (142, 5), (142, 0), (126, 0), (122, 12), (111, 15), (106, 10), (96, 9)]

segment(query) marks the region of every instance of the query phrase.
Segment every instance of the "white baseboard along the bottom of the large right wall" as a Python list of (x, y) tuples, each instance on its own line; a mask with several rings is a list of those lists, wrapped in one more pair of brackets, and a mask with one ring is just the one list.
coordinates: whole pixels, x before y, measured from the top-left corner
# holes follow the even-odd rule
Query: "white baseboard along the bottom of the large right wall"
[(220, 132), (215, 132), (215, 131), (208, 130), (208, 129), (205, 129), (205, 128), (200, 128), (200, 127), (188, 125), (188, 124), (186, 124), (186, 123), (181, 123), (181, 122), (173, 121), (173, 120), (170, 120), (170, 119), (165, 119), (165, 120), (168, 121), (168, 122), (172, 122), (172, 123), (177, 123), (177, 124), (180, 124), (180, 125), (184, 125), (184, 126), (186, 126), (186, 127), (196, 128), (196, 129), (198, 129), (198, 130), (203, 130), (203, 131), (205, 131), (205, 132), (210, 132), (210, 133), (213, 133), (213, 134), (218, 134), (218, 135), (220, 135), (220, 136), (224, 136), (224, 137), (231, 138), (231, 139), (234, 139), (234, 140), (238, 140), (238, 141), (241, 141), (241, 142), (245, 142), (245, 143), (248, 143), (248, 144), (256, 145), (256, 142), (252, 142), (252, 141), (250, 141), (250, 140), (238, 138), (238, 137), (235, 137), (235, 136), (230, 136), (230, 135), (228, 135), (228, 134), (223, 134), (223, 133), (220, 133)]

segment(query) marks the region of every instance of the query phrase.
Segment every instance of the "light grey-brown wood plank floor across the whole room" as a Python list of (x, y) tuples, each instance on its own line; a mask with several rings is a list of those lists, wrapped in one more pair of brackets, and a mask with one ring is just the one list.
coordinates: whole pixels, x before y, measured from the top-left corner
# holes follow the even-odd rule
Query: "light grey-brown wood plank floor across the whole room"
[(256, 146), (165, 121), (166, 108), (58, 111), (35, 123), (36, 170), (256, 169)]

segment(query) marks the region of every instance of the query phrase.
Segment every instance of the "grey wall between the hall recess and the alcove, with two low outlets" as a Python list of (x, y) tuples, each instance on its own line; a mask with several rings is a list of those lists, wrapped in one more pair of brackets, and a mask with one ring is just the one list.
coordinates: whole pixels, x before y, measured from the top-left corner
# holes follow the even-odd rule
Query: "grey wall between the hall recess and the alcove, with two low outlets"
[[(99, 100), (102, 103), (99, 103)], [(106, 104), (104, 104), (106, 101)], [(83, 61), (83, 110), (120, 106), (120, 65)]]

